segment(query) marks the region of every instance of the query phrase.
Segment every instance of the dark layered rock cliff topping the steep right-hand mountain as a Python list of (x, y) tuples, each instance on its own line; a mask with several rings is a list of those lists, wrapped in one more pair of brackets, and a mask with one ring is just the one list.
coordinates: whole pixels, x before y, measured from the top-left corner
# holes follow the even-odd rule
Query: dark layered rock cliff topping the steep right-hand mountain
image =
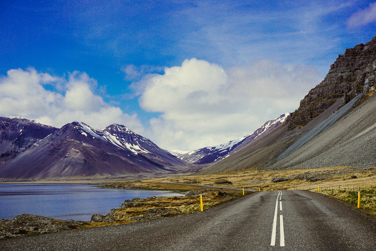
[(324, 80), (308, 92), (300, 101), (299, 108), (288, 118), (288, 128), (292, 130), (297, 126), (305, 126), (338, 98), (343, 98), (343, 104), (346, 104), (362, 91), (374, 89), (375, 58), (376, 37), (338, 55)]

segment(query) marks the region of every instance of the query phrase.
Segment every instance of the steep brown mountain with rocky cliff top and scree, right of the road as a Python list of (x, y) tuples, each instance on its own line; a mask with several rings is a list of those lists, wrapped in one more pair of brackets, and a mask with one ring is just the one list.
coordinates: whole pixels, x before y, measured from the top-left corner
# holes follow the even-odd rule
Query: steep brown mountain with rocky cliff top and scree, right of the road
[(299, 108), (267, 135), (197, 174), (376, 165), (376, 37), (346, 49)]

